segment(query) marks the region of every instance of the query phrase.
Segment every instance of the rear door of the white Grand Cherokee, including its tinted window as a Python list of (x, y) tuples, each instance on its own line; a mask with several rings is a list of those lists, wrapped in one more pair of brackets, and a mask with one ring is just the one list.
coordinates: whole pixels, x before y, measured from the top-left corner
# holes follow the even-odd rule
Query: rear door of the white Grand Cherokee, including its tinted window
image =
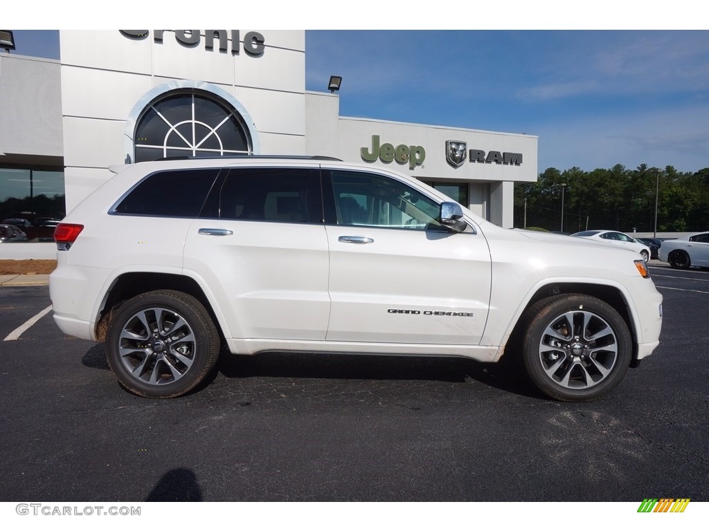
[(328, 241), (318, 171), (231, 169), (189, 229), (184, 267), (206, 280), (233, 338), (324, 340)]

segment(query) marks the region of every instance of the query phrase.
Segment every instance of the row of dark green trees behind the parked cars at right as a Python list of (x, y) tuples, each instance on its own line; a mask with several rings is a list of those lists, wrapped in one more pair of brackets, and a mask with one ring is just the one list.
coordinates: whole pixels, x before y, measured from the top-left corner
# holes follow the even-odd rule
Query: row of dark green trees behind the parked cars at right
[(647, 164), (634, 170), (622, 164), (593, 171), (549, 168), (536, 183), (517, 183), (515, 227), (654, 232), (656, 198), (657, 232), (709, 229), (709, 168), (683, 173)]

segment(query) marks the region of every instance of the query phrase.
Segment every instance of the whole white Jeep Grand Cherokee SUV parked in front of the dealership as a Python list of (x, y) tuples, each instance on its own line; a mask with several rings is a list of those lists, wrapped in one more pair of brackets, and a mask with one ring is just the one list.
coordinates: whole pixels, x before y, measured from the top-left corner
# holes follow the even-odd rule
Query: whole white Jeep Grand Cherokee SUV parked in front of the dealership
[(130, 392), (172, 397), (220, 346), (518, 360), (588, 401), (659, 343), (637, 253), (501, 229), (387, 169), (327, 157), (125, 166), (65, 217), (57, 325), (105, 341)]

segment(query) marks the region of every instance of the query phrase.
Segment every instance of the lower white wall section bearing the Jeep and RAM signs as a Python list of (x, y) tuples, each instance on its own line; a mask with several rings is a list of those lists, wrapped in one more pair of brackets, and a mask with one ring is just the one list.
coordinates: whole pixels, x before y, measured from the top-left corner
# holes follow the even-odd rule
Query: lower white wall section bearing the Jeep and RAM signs
[[(308, 154), (336, 156), (353, 162), (368, 162), (362, 149), (372, 154), (373, 137), (379, 148), (385, 143), (404, 145), (410, 153), (425, 156), (421, 164), (409, 161), (369, 164), (407, 173), (420, 181), (469, 183), (469, 204), (473, 212), (501, 227), (513, 227), (514, 182), (537, 181), (537, 137), (510, 133), (468, 130), (364, 118), (340, 118), (339, 98), (331, 94), (306, 95), (306, 139)], [(467, 159), (453, 167), (446, 160), (446, 142), (466, 142), (468, 150), (481, 149), (522, 154), (521, 164), (480, 163)]]

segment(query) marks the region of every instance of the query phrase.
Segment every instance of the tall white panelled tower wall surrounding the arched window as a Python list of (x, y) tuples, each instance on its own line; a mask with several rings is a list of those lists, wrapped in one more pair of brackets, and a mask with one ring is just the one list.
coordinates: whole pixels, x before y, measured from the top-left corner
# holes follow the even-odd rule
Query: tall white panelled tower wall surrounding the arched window
[[(174, 30), (164, 30), (157, 42), (155, 30), (144, 38), (118, 30), (60, 31), (67, 211), (111, 176), (108, 166), (126, 161), (131, 110), (171, 81), (204, 81), (233, 96), (248, 110), (261, 153), (306, 151), (305, 32), (260, 31), (264, 51), (250, 55), (242, 42), (234, 54), (226, 31), (225, 52), (218, 40), (214, 50), (206, 49), (205, 30), (189, 47)], [(248, 31), (240, 30), (240, 39)]]

